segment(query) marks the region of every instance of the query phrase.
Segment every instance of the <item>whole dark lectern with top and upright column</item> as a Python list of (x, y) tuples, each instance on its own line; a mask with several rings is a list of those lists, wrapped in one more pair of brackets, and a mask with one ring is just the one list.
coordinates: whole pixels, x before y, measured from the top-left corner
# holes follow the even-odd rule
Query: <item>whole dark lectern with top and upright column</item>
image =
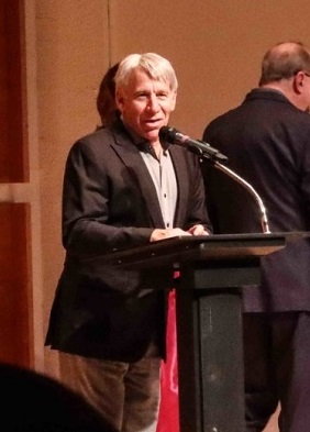
[[(291, 233), (294, 234), (294, 233)], [(112, 265), (180, 270), (176, 291), (181, 432), (243, 432), (242, 286), (287, 233), (180, 236), (107, 256)]]

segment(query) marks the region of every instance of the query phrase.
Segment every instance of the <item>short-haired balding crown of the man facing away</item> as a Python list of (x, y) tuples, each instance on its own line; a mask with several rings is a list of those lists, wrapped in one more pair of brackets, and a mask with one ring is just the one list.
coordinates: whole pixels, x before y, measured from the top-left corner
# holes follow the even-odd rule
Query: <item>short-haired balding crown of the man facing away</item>
[(259, 87), (310, 71), (310, 52), (301, 42), (281, 42), (267, 51), (262, 63)]

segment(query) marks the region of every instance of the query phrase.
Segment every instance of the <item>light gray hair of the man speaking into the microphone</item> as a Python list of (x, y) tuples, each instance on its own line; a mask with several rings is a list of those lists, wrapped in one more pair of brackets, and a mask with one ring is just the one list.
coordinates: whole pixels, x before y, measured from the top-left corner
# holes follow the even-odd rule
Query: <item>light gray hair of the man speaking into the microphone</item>
[(155, 53), (131, 54), (126, 56), (120, 63), (114, 78), (117, 89), (128, 86), (132, 71), (137, 67), (144, 69), (152, 79), (168, 82), (170, 89), (177, 91), (178, 81), (173, 65), (169, 60)]

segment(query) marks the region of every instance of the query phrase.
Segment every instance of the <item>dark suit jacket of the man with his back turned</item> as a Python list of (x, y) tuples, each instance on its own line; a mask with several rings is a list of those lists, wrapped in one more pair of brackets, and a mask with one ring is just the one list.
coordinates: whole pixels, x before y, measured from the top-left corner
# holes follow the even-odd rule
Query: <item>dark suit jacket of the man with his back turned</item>
[[(280, 92), (254, 89), (213, 120), (203, 140), (229, 157), (267, 210), (272, 232), (310, 230), (310, 115)], [(203, 168), (214, 233), (262, 232), (255, 200), (214, 167)], [(263, 258), (262, 287), (244, 289), (246, 311), (310, 310), (310, 244), (302, 240)]]

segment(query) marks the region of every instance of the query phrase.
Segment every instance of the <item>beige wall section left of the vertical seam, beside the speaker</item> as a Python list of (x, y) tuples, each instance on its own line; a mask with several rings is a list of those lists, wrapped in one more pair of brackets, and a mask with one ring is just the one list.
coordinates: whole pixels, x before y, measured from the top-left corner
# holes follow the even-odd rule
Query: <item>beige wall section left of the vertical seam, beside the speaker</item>
[[(99, 122), (96, 96), (109, 66), (108, 3), (35, 1), (38, 154), (41, 166), (43, 328), (62, 270), (60, 201), (64, 163), (73, 142)], [(46, 350), (45, 369), (57, 373)]]

